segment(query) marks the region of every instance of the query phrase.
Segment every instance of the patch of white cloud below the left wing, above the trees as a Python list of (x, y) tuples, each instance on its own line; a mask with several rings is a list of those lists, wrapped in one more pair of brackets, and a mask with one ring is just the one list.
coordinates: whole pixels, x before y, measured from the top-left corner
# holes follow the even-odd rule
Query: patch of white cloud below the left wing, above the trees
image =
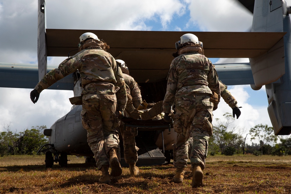
[[(12, 131), (23, 131), (32, 126), (46, 125), (48, 128), (70, 111), (68, 98), (72, 91), (44, 90), (36, 104), (30, 100), (31, 89), (1, 88), (0, 126), (10, 124)], [(0, 127), (1, 129), (2, 127)], [(3, 131), (1, 129), (0, 131)]]

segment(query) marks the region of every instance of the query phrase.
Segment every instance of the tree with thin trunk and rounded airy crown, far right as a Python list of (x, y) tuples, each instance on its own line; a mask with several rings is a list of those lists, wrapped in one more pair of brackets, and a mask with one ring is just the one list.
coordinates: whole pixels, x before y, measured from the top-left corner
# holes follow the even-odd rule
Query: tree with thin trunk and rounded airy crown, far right
[(249, 133), (252, 138), (251, 140), (258, 140), (260, 142), (261, 154), (263, 155), (263, 145), (266, 143), (276, 142), (277, 136), (274, 135), (273, 127), (269, 127), (267, 124), (257, 124), (255, 127), (250, 129)]

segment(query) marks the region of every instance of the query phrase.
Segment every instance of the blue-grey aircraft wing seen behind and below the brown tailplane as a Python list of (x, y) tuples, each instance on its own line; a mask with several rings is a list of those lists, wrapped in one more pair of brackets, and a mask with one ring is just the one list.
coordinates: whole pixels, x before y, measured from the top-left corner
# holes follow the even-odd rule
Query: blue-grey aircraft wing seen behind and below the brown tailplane
[[(254, 84), (251, 65), (249, 63), (214, 64), (219, 79), (226, 85)], [(48, 66), (47, 72), (54, 69)], [(143, 71), (145, 74), (146, 71)], [(159, 77), (159, 70), (148, 70), (148, 74)], [(168, 69), (165, 70), (166, 77)], [(144, 76), (146, 78), (146, 76)], [(38, 66), (33, 64), (0, 63), (0, 87), (2, 88), (31, 88), (38, 83)], [(48, 89), (73, 90), (72, 74), (61, 79)]]

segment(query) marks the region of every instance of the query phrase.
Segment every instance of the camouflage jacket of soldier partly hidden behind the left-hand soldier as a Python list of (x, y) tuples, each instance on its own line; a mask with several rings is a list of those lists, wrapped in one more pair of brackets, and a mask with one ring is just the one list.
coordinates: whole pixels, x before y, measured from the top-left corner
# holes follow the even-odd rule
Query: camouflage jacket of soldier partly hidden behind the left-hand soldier
[(126, 92), (132, 97), (133, 105), (135, 108), (137, 108), (143, 101), (141, 98), (141, 90), (139, 89), (139, 85), (137, 85), (133, 77), (130, 75), (123, 74), (123, 77), (125, 81)]

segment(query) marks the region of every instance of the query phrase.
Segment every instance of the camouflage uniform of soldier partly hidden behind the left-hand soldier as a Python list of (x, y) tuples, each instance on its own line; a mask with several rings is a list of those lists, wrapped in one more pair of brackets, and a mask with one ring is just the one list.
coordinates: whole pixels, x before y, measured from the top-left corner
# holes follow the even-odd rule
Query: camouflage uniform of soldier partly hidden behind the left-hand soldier
[[(139, 86), (137, 85), (132, 76), (129, 76), (127, 74), (123, 74), (123, 76), (127, 95), (132, 97), (134, 107), (137, 108), (142, 103), (141, 90), (139, 89)], [(129, 117), (126, 110), (127, 108), (125, 108), (124, 115), (126, 117)], [(137, 151), (139, 150), (139, 148), (136, 147), (135, 143), (136, 128), (126, 127), (124, 131), (123, 122), (121, 121), (120, 132), (123, 138), (125, 162), (128, 164), (136, 163), (138, 158)]]

